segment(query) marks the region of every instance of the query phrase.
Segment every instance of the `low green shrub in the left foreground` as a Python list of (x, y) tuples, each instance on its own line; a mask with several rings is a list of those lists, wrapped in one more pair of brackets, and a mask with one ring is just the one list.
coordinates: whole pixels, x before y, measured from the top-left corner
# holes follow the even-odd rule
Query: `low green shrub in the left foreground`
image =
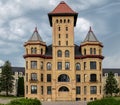
[(7, 105), (42, 105), (37, 99), (16, 99)]

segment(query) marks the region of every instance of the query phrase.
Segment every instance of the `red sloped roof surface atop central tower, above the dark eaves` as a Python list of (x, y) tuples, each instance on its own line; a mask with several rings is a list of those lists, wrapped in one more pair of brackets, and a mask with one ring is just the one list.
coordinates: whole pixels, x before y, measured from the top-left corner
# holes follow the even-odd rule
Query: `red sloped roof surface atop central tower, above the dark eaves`
[(57, 14), (57, 13), (76, 13), (75, 11), (73, 11), (64, 1), (60, 2), (60, 4), (58, 4), (58, 6), (52, 11), (50, 12), (50, 14)]

